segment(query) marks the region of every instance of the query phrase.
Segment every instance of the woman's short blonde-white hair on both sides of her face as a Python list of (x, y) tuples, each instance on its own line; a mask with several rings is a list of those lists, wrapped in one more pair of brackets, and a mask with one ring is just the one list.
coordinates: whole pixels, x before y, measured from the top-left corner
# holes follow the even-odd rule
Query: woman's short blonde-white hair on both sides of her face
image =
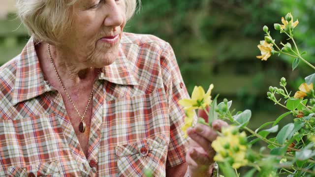
[[(16, 0), (18, 16), (37, 41), (58, 44), (72, 25), (72, 6), (78, 0)], [(129, 20), (140, 0), (125, 0)]]

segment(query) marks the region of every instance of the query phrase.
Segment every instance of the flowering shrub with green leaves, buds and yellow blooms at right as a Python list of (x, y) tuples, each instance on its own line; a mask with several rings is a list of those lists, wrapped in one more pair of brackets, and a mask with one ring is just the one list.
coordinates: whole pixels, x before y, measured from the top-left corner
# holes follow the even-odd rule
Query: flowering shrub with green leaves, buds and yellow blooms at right
[[(315, 66), (305, 59), (306, 52), (300, 51), (295, 42), (293, 33), (299, 21), (293, 19), (291, 13), (288, 13), (282, 18), (282, 24), (274, 24), (274, 28), (285, 35), (285, 43), (279, 42), (279, 44), (269, 28), (263, 27), (266, 34), (264, 40), (258, 45), (261, 56), (257, 58), (267, 60), (272, 55), (288, 56), (293, 60), (292, 70), (296, 69), (300, 62), (315, 69)], [(267, 92), (268, 99), (286, 109), (287, 112), (273, 121), (263, 123), (255, 131), (248, 127), (252, 117), (250, 110), (235, 113), (235, 110), (230, 111), (231, 102), (227, 99), (218, 105), (214, 104), (217, 97), (214, 99), (209, 112), (215, 111), (216, 117), (229, 121), (231, 124), (218, 132), (217, 140), (212, 143), (212, 147), (217, 152), (215, 160), (226, 177), (243, 176), (237, 172), (237, 169), (242, 166), (251, 168), (244, 175), (247, 177), (278, 177), (279, 175), (311, 177), (315, 175), (315, 91), (313, 84), (315, 84), (315, 74), (307, 76), (305, 83), (301, 84), (294, 94), (291, 91), (288, 92), (284, 77), (279, 82), (279, 88), (270, 86)], [(206, 107), (202, 106), (203, 99), (199, 102), (198, 105), (202, 107), (199, 107), (199, 110), (207, 112)], [(214, 115), (210, 113), (207, 114), (209, 120), (213, 119)], [(279, 129), (279, 123), (288, 115), (295, 118), (289, 119)], [(250, 136), (245, 138), (245, 132), (239, 133), (241, 130), (247, 131)], [(267, 147), (259, 150), (252, 148), (252, 145), (257, 142), (265, 142)], [(231, 168), (234, 168), (236, 173)]]

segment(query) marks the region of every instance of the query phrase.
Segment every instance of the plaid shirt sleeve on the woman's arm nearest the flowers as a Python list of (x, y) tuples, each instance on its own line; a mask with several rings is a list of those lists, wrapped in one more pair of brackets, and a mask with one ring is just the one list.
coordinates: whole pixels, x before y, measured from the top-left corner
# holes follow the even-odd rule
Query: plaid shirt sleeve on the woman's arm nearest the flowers
[(170, 120), (170, 142), (167, 152), (166, 168), (186, 162), (188, 140), (184, 138), (181, 127), (184, 125), (185, 112), (178, 101), (189, 98), (174, 51), (166, 43), (160, 58), (164, 89), (168, 99)]

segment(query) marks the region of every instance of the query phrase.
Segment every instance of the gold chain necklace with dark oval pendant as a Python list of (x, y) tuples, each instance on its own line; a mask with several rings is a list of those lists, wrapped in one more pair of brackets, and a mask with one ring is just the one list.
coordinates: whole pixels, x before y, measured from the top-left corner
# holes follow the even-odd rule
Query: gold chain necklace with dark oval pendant
[(92, 89), (92, 91), (91, 91), (91, 94), (90, 94), (90, 97), (89, 97), (89, 101), (88, 101), (87, 106), (85, 107), (84, 113), (83, 113), (83, 115), (81, 115), (81, 114), (79, 113), (77, 107), (74, 105), (74, 103), (73, 103), (73, 101), (72, 101), (72, 99), (71, 99), (69, 93), (67, 92), (67, 90), (65, 89), (65, 87), (64, 87), (64, 85), (63, 85), (63, 81), (61, 80), (61, 78), (60, 78), (60, 76), (59, 76), (59, 73), (58, 73), (58, 71), (57, 71), (57, 69), (56, 69), (56, 65), (55, 65), (55, 63), (54, 63), (54, 61), (53, 61), (53, 58), (51, 57), (50, 45), (49, 45), (49, 44), (48, 44), (48, 53), (49, 53), (49, 59), (50, 59), (51, 63), (53, 64), (53, 67), (54, 67), (54, 69), (55, 69), (55, 71), (56, 71), (56, 74), (57, 74), (57, 77), (58, 77), (58, 79), (59, 79), (59, 82), (60, 82), (61, 86), (63, 87), (63, 90), (64, 90), (65, 94), (67, 95), (68, 100), (69, 100), (70, 103), (72, 104), (72, 106), (73, 106), (73, 108), (75, 109), (75, 111), (78, 113), (78, 116), (81, 118), (81, 122), (80, 122), (80, 124), (79, 124), (79, 131), (80, 131), (81, 133), (84, 133), (85, 127), (86, 127), (86, 124), (85, 124), (85, 122), (84, 122), (84, 117), (85, 117), (85, 114), (86, 114), (87, 111), (88, 111), (88, 108), (89, 108), (90, 103), (91, 103), (91, 99), (92, 99), (92, 97), (93, 97), (93, 89)]

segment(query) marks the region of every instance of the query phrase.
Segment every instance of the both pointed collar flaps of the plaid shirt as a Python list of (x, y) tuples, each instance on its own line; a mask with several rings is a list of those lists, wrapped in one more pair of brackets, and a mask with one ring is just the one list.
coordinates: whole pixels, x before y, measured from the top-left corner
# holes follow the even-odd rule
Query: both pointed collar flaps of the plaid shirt
[[(44, 80), (32, 37), (19, 57), (20, 59), (17, 61), (16, 80), (13, 88), (13, 105), (52, 90), (52, 87)], [(119, 57), (114, 63), (102, 69), (98, 79), (107, 80), (119, 85), (138, 85), (121, 44), (119, 47)]]

